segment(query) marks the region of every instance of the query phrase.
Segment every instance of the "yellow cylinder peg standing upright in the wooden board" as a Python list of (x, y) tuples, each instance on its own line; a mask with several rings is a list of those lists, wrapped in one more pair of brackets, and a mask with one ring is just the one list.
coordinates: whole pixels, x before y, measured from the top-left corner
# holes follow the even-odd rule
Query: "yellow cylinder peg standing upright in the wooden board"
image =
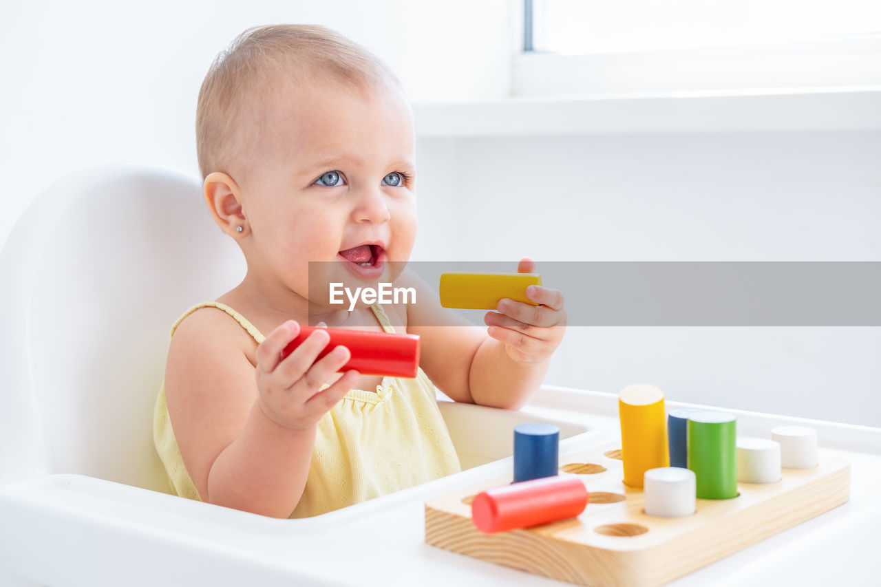
[(670, 466), (663, 391), (655, 385), (628, 385), (618, 394), (624, 483), (642, 487), (649, 469)]

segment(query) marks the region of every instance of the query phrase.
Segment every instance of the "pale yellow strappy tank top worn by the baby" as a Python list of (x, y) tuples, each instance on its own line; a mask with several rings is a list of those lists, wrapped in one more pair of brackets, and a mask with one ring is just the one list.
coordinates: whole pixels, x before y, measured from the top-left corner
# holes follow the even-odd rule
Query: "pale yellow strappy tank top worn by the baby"
[[(263, 334), (244, 316), (218, 302), (190, 308), (174, 323), (171, 335), (199, 308), (223, 310), (258, 345), (263, 342)], [(382, 330), (394, 332), (381, 306), (371, 308)], [(153, 414), (153, 441), (172, 492), (201, 501), (174, 439), (164, 382)], [(413, 379), (387, 376), (376, 393), (350, 390), (318, 421), (306, 488), (289, 517), (317, 516), (459, 471), (428, 376), (421, 368)]]

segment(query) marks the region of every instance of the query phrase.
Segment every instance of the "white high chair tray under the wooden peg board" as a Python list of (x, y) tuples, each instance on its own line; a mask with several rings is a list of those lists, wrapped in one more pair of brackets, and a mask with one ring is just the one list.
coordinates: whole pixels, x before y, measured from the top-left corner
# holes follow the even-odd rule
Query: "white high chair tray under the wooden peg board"
[[(562, 457), (618, 438), (617, 401), (613, 394), (544, 387), (521, 412), (588, 427), (560, 442)], [(850, 500), (669, 584), (862, 584), (877, 576), (881, 428), (726, 411), (737, 414), (738, 435), (767, 437), (784, 424), (817, 429), (821, 447), (850, 461)], [(490, 432), (511, 442), (510, 430)], [(0, 487), (0, 569), (37, 583), (90, 587), (568, 584), (425, 543), (426, 499), (498, 477), (512, 466), (507, 457), (304, 520), (255, 516), (80, 475), (51, 475)]]

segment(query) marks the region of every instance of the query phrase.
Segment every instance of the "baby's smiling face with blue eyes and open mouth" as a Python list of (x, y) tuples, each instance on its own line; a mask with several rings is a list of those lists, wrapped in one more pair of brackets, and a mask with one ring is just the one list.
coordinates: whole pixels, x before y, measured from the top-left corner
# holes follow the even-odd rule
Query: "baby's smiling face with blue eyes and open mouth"
[(313, 301), (322, 297), (307, 294), (310, 261), (336, 262), (313, 265), (314, 293), (317, 282), (395, 279), (403, 264), (386, 262), (406, 261), (416, 237), (413, 122), (403, 93), (324, 78), (278, 92), (263, 117), (241, 185), (255, 257), (248, 271), (270, 271)]

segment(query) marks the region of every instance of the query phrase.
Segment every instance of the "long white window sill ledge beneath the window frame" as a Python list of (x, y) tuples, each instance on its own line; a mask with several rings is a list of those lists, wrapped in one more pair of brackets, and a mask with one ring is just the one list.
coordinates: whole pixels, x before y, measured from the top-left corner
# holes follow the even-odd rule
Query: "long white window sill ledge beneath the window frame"
[(417, 136), (881, 130), (881, 85), (413, 105)]

